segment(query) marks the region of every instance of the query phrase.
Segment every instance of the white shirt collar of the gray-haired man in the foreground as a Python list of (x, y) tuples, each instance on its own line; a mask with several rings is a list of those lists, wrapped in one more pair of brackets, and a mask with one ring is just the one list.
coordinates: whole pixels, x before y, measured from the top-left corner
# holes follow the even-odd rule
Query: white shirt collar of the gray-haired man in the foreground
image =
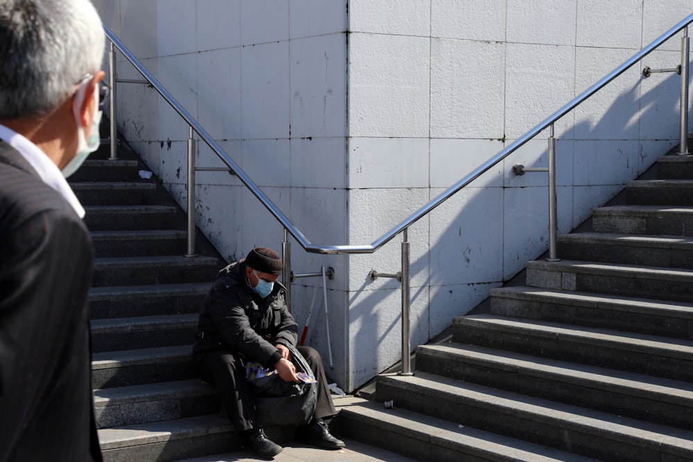
[(0, 139), (10, 143), (12, 148), (19, 151), (24, 159), (36, 170), (44, 183), (58, 191), (67, 200), (68, 204), (75, 209), (77, 215), (80, 218), (84, 218), (85, 209), (80, 204), (75, 193), (73, 193), (67, 180), (62, 176), (62, 172), (37, 145), (4, 125), (0, 125)]

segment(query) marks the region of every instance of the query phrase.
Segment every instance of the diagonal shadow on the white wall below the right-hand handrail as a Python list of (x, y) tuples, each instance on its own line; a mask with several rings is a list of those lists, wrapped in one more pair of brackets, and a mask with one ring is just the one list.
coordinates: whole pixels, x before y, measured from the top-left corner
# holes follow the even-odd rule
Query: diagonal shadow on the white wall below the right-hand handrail
[[(626, 72), (621, 78), (627, 77), (628, 75), (631, 74)], [(577, 190), (579, 187), (594, 188), (594, 186), (599, 185), (599, 183), (593, 182), (593, 177), (602, 177), (601, 184), (604, 184), (603, 171), (592, 172), (590, 170), (588, 177), (586, 177), (586, 181), (581, 183), (576, 183), (576, 179), (573, 175), (574, 170), (580, 167), (581, 163), (588, 162), (588, 159), (590, 159), (588, 154), (590, 154), (590, 147), (594, 145), (594, 143), (590, 143), (590, 141), (604, 140), (604, 136), (602, 135), (606, 132), (611, 134), (611, 136), (605, 141), (611, 141), (618, 146), (626, 144), (626, 141), (629, 139), (637, 139), (640, 130), (638, 127), (633, 128), (633, 124), (653, 123), (662, 119), (678, 120), (677, 117), (680, 104), (680, 78), (678, 75), (671, 75), (665, 78), (664, 81), (658, 82), (656, 87), (642, 94), (642, 96), (638, 96), (643, 79), (642, 75), (640, 75), (640, 79), (635, 82), (635, 85), (633, 85), (629, 91), (620, 94), (620, 96), (613, 101), (611, 106), (608, 107), (606, 112), (604, 112), (603, 116), (599, 119), (599, 123), (592, 125), (589, 121), (582, 121), (575, 123), (572, 127), (565, 130), (565, 136), (572, 137), (574, 154), (571, 153), (573, 159), (568, 155), (562, 157), (560, 145), (556, 152), (558, 184), (568, 185), (567, 188), (562, 188), (558, 197), (558, 225), (560, 231), (567, 232), (577, 227), (580, 222), (589, 217), (591, 208), (600, 206), (608, 201), (608, 199), (611, 199), (615, 193), (623, 188), (625, 181), (629, 181), (640, 175), (640, 173), (646, 170), (651, 163), (656, 160), (655, 157), (650, 158), (644, 155), (642, 141), (633, 143), (633, 145), (637, 145), (638, 148), (638, 152), (635, 153), (629, 153), (622, 148), (617, 148), (615, 152), (613, 152), (614, 157), (606, 160), (606, 162), (616, 162), (616, 157), (620, 159), (620, 162), (622, 162), (629, 171), (620, 175), (619, 179), (611, 179), (611, 181), (605, 185), (610, 186), (609, 189), (611, 192), (608, 197), (592, 196), (590, 197), (591, 204), (580, 204), (586, 207), (587, 210), (574, 210), (577, 204), (579, 204), (579, 201), (576, 201), (576, 199), (579, 199), (579, 197), (577, 197), (580, 194), (580, 191)], [(620, 78), (617, 80), (620, 80)], [(638, 121), (631, 120), (631, 114), (626, 112), (626, 109), (629, 108), (640, 111), (641, 116)], [(631, 132), (633, 132), (633, 134), (630, 134)], [(678, 133), (678, 128), (676, 132)], [(602, 137), (599, 138), (599, 136)], [(662, 148), (660, 154), (657, 154), (656, 157), (667, 152), (674, 144), (667, 136), (669, 135), (665, 134), (662, 139), (652, 140), (667, 143), (667, 147)], [(570, 141), (570, 139), (568, 141)], [(522, 149), (523, 148), (520, 148), (520, 150)], [(513, 154), (507, 159), (512, 157), (512, 155)], [(546, 148), (541, 152), (541, 155), (533, 165), (525, 166), (545, 167), (547, 166), (547, 155)], [(623, 156), (626, 156), (626, 159), (622, 159)], [(634, 162), (633, 159), (635, 160)], [(561, 163), (565, 164), (569, 161), (572, 161), (571, 168), (567, 170), (565, 167), (561, 168)], [(635, 163), (635, 165), (633, 165), (633, 163)], [(602, 165), (604, 165), (604, 163), (602, 163)], [(599, 162), (596, 163), (595, 168), (598, 166)], [(505, 166), (505, 170), (509, 170), (508, 165)], [(561, 173), (566, 171), (570, 172), (572, 177), (561, 177)], [(617, 170), (613, 171), (615, 172)], [(484, 175), (491, 175), (491, 171), (486, 172)], [(514, 220), (511, 226), (509, 226), (509, 224), (505, 224), (505, 221), (508, 215), (516, 213), (515, 211), (489, 210), (488, 204), (499, 204), (499, 206), (502, 207), (503, 204), (508, 203), (508, 199), (514, 199), (518, 195), (525, 194), (527, 197), (532, 198), (531, 195), (527, 193), (527, 190), (531, 188), (519, 185), (510, 186), (516, 178), (514, 178), (514, 174), (511, 172), (509, 174), (504, 173), (505, 184), (502, 188), (489, 187), (478, 190), (479, 192), (471, 196), (471, 199), (465, 202), (461, 209), (457, 209), (455, 212), (457, 215), (455, 217), (447, 220), (449, 224), (446, 226), (440, 238), (437, 239), (435, 243), (432, 243), (428, 254), (412, 261), (412, 281), (416, 281), (417, 283), (419, 279), (416, 278), (416, 275), (425, 274), (424, 272), (426, 272), (430, 266), (428, 277), (421, 282), (421, 286), (412, 286), (411, 290), (410, 326), (412, 350), (416, 345), (425, 344), (450, 326), (453, 317), (465, 314), (468, 310), (471, 310), (471, 308), (477, 305), (477, 303), (486, 299), (491, 287), (498, 287), (511, 277), (506, 277), (504, 280), (500, 275), (517, 274), (523, 269), (527, 260), (538, 258), (538, 256), (541, 256), (541, 254), (547, 251), (549, 234), (547, 179), (545, 174), (541, 175), (544, 178), (542, 180), (543, 186), (535, 188), (541, 190), (541, 204), (529, 204), (529, 202), (527, 202), (526, 205), (528, 208), (520, 211), (520, 214), (525, 214), (523, 220)], [(480, 179), (483, 178), (484, 176)], [(480, 179), (477, 179), (475, 182), (478, 183)], [(583, 179), (578, 179), (578, 181), (582, 180)], [(471, 186), (473, 185), (474, 184)], [(462, 194), (462, 191), (457, 193), (457, 195), (460, 194)], [(448, 202), (453, 201), (455, 201), (455, 196)], [(441, 213), (441, 208), (444, 208), (444, 206), (445, 204), (442, 204), (433, 211), (432, 214)], [(534, 213), (532, 213), (532, 207), (534, 210), (540, 211), (540, 213), (534, 215)], [(565, 207), (571, 212), (570, 215), (561, 213), (561, 208)], [(446, 210), (450, 210), (450, 208)], [(480, 232), (475, 233), (475, 235), (465, 233), (465, 229), (476, 227), (477, 224), (474, 222), (480, 219), (478, 215), (472, 216), (466, 213), (467, 210), (482, 211), (483, 215), (493, 215), (495, 213), (497, 220), (500, 220), (498, 225), (504, 227), (505, 224), (505, 233), (500, 233), (500, 236), (502, 236), (500, 242), (488, 240), (484, 235), (483, 229), (480, 229)], [(453, 215), (449, 216), (452, 217)], [(491, 220), (491, 222), (493, 222), (493, 220)], [(414, 224), (414, 226), (416, 226), (416, 224)], [(489, 232), (493, 233), (493, 230), (489, 229)], [(515, 236), (518, 234), (521, 235), (521, 240), (523, 242), (518, 243), (518, 245), (526, 248), (506, 249), (505, 247), (509, 244), (509, 233)], [(411, 234), (412, 233), (410, 233), (410, 236)], [(411, 237), (410, 241), (412, 241)], [(518, 240), (514, 242), (518, 242)], [(414, 253), (413, 249), (416, 245), (416, 242), (412, 242), (412, 254)], [(498, 246), (500, 246), (500, 249)], [(476, 251), (471, 251), (471, 249), (475, 249)], [(507, 257), (509, 254), (517, 254), (517, 261), (509, 261)], [(519, 257), (525, 255), (529, 258), (521, 259)], [(437, 266), (437, 262), (440, 260), (445, 260), (448, 263), (450, 261), (457, 262), (457, 270), (450, 271), (449, 266), (446, 268)], [(489, 278), (486, 281), (479, 280), (476, 274), (478, 268), (489, 262), (493, 264), (494, 260), (498, 267), (493, 269), (493, 273), (497, 274), (498, 278)], [(507, 267), (503, 267), (503, 265)], [(354, 374), (363, 374), (362, 377), (365, 377), (365, 380), (363, 380), (362, 383), (384, 371), (389, 366), (392, 366), (392, 364), (381, 364), (383, 360), (386, 360), (385, 357), (380, 357), (380, 362), (378, 362), (378, 358), (374, 357), (376, 348), (381, 352), (383, 348), (387, 348), (388, 346), (393, 350), (395, 348), (398, 350), (401, 344), (401, 314), (392, 317), (392, 319), (383, 319), (383, 310), (379, 309), (381, 305), (387, 303), (385, 299), (394, 296), (393, 293), (395, 293), (397, 297), (401, 296), (401, 285), (396, 283), (396, 281), (391, 281), (387, 283), (382, 290), (369, 291), (368, 287), (371, 284), (372, 281), (369, 276), (365, 276), (362, 286), (349, 300), (349, 306), (351, 307), (351, 303), (358, 299), (358, 304), (350, 308), (351, 326), (379, 326), (378, 328), (371, 327), (369, 329), (360, 329), (356, 333), (351, 344), (351, 355), (354, 358), (354, 362), (359, 363), (352, 364), (351, 370)], [(364, 296), (366, 292), (370, 293)], [(466, 301), (466, 304), (461, 304), (459, 303), (460, 301)], [(374, 332), (377, 332), (376, 337), (373, 337)], [(398, 360), (399, 356), (397, 361)], [(358, 379), (360, 379), (360, 377), (355, 376), (355, 380)], [(360, 387), (360, 384), (355, 384), (355, 387)]]

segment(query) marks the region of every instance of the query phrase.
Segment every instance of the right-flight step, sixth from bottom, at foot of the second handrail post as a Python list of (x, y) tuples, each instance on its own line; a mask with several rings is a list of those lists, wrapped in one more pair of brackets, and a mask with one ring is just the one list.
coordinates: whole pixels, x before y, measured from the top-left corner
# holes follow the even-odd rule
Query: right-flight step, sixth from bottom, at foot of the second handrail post
[(527, 285), (667, 301), (693, 301), (693, 269), (561, 260), (527, 262)]

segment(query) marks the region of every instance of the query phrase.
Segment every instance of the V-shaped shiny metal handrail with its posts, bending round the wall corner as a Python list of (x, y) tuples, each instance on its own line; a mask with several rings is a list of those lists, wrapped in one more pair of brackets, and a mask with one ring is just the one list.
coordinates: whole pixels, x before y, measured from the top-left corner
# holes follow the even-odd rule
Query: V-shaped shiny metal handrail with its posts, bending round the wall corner
[[(143, 75), (144, 78), (149, 82), (152, 87), (154, 87), (159, 94), (166, 100), (166, 102), (175, 109), (175, 111), (188, 123), (190, 126), (190, 134), (188, 138), (188, 254), (192, 255), (193, 251), (191, 251), (191, 248), (193, 248), (193, 236), (191, 236), (194, 233), (194, 172), (195, 172), (195, 154), (194, 154), (194, 148), (195, 148), (195, 142), (193, 140), (193, 131), (197, 132), (202, 141), (207, 143), (209, 145), (209, 148), (217, 154), (217, 156), (229, 167), (231, 172), (234, 172), (235, 175), (238, 176), (238, 179), (245, 184), (245, 186), (257, 197), (257, 199), (267, 208), (268, 211), (282, 224), (284, 227), (284, 242), (282, 244), (282, 253), (283, 253), (283, 281), (287, 283), (290, 281), (290, 244), (288, 242), (288, 235), (290, 234), (293, 236), (298, 242), (301, 247), (304, 248), (305, 251), (308, 251), (310, 253), (314, 254), (370, 254), (373, 253), (374, 251), (378, 250), (380, 247), (383, 247), (387, 242), (392, 240), (395, 236), (397, 236), (399, 233), (403, 233), (403, 242), (402, 242), (402, 254), (401, 254), (401, 272), (398, 274), (399, 278), (401, 278), (401, 283), (402, 283), (402, 375), (411, 375), (410, 373), (410, 332), (409, 332), (409, 326), (410, 326), (410, 319), (409, 319), (409, 308), (410, 308), (410, 254), (409, 254), (409, 242), (407, 242), (407, 229), (409, 226), (412, 226), (415, 222), (420, 220), (422, 217), (426, 216), (428, 213), (430, 213), (433, 209), (435, 209), (437, 206), (445, 202), (447, 199), (455, 195), (459, 190), (470, 184), (472, 181), (483, 175), (486, 171), (489, 169), (493, 168), (497, 163), (505, 159), (506, 157), (509, 156), (509, 154), (515, 152), (523, 146), (527, 141), (530, 139), (533, 139), (534, 136), (545, 130), (547, 127), (550, 127), (551, 129), (551, 136), (550, 136), (550, 154), (553, 152), (553, 155), (555, 155), (555, 148), (552, 150), (551, 149), (551, 144), (555, 143), (555, 140), (553, 138), (553, 129), (554, 129), (554, 123), (558, 121), (561, 117), (563, 117), (565, 114), (570, 112), (572, 109), (583, 103), (585, 100), (590, 98), (593, 94), (595, 94), (597, 91), (602, 89), (604, 86), (606, 86), (609, 82), (617, 78), (619, 75), (624, 73), (627, 69), (630, 69), (631, 66), (633, 66), (635, 63), (639, 62), (642, 60), (643, 57), (647, 56), (651, 51), (656, 49), (658, 46), (663, 44), (667, 39), (672, 37), (674, 34), (678, 33), (679, 30), (683, 28), (687, 28), (688, 24), (693, 22), (693, 14), (685, 17), (682, 21), (680, 21), (676, 26), (670, 28), (667, 30), (666, 33), (663, 35), (660, 35), (657, 39), (655, 39), (651, 44), (648, 46), (642, 48), (638, 53), (635, 53), (629, 60), (626, 60), (623, 64), (618, 66), (616, 69), (611, 71), (610, 73), (606, 74), (602, 79), (597, 81), (594, 85), (583, 91), (579, 96), (574, 98), (573, 100), (570, 101), (570, 103), (564, 105), (561, 107), (561, 109), (557, 110), (552, 114), (551, 116), (547, 117), (544, 121), (536, 125), (536, 127), (532, 128), (532, 130), (529, 130), (527, 133), (523, 134), (523, 136), (520, 136), (519, 139), (517, 139), (514, 143), (511, 143), (507, 148), (504, 150), (501, 150), (498, 152), (498, 154), (495, 154), (495, 156), (491, 157), (491, 159), (488, 159), (482, 165), (478, 166), (473, 170), (471, 173), (466, 175), (464, 178), (460, 179), (457, 181), (457, 183), (453, 184), (453, 186), (450, 186), (448, 189), (446, 189), (443, 193), (437, 195), (434, 199), (432, 199), (428, 204), (424, 205), (423, 207), (419, 208), (418, 211), (412, 213), (409, 217), (405, 218), (401, 223), (397, 224), (392, 228), (391, 230), (387, 231), (383, 236), (380, 236), (380, 238), (374, 240), (370, 245), (314, 245), (312, 244), (304, 234), (297, 229), (297, 227), (284, 215), (279, 208), (270, 200), (263, 191), (258, 188), (258, 186), (250, 179), (243, 170), (234, 162), (233, 159), (231, 159), (228, 154), (222, 148), (214, 141), (211, 136), (200, 126), (198, 121), (195, 121), (195, 119), (188, 114), (186, 109), (182, 107), (173, 96), (168, 93), (168, 91), (159, 83), (159, 81), (154, 78), (154, 76), (137, 60), (132, 53), (128, 50), (128, 48), (125, 48), (125, 46), (122, 44), (122, 42), (116, 37), (105, 24), (103, 25), (103, 28), (105, 30), (105, 33), (109, 40), (112, 42), (112, 50), (113, 46), (119, 49), (121, 53), (130, 61), (130, 63)], [(685, 39), (687, 39), (687, 30), (685, 34)], [(683, 48), (683, 46), (682, 46)], [(687, 53), (687, 51), (686, 51)], [(681, 98), (681, 154), (685, 154), (687, 150), (685, 149), (685, 146), (687, 143), (687, 86), (688, 86), (688, 81), (687, 81), (687, 57), (685, 58), (686, 61), (685, 63), (683, 62), (684, 52), (682, 49), (682, 66), (685, 64), (685, 75), (682, 73), (682, 82), (681, 82), (681, 88), (682, 88), (682, 98)], [(110, 78), (112, 79), (112, 87), (113, 91), (111, 93), (111, 140), (112, 140), (112, 145), (116, 142), (116, 136), (115, 136), (115, 127), (114, 127), (114, 118), (115, 118), (115, 109), (114, 109), (114, 103), (115, 103), (115, 59), (114, 59), (114, 51), (112, 51), (110, 57), (109, 57), (109, 63), (112, 63), (111, 69), (110, 69)], [(684, 91), (685, 91), (685, 100), (684, 100)], [(683, 114), (685, 112), (685, 114)], [(112, 151), (113, 152), (113, 151)], [(550, 166), (549, 166), (549, 171), (553, 170), (554, 171), (554, 182), (555, 182), (555, 163), (554, 159), (550, 158)], [(551, 175), (550, 175), (551, 176)], [(552, 179), (550, 178), (550, 186), (552, 184)], [(551, 189), (551, 187), (550, 187)], [(554, 184), (554, 189), (555, 189), (555, 184)], [(552, 196), (553, 194), (553, 196)], [(552, 207), (552, 210), (550, 210), (550, 221), (553, 220), (554, 223), (553, 225), (550, 225), (550, 247), (555, 247), (555, 190), (553, 193), (550, 191), (550, 206)], [(552, 205), (551, 205), (552, 204)], [(550, 208), (551, 208), (550, 207)], [(551, 251), (550, 254), (554, 254), (554, 251)], [(376, 272), (371, 272), (371, 274), (377, 274)], [(390, 274), (380, 274), (380, 276), (394, 276)], [(287, 294), (287, 302), (290, 305), (290, 292)]]

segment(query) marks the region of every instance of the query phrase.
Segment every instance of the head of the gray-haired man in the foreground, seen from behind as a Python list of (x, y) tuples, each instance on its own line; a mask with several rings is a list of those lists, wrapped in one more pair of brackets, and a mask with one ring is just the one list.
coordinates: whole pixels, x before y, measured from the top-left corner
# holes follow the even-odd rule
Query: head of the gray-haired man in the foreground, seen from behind
[(89, 0), (0, 0), (0, 123), (61, 169), (98, 114), (104, 47)]

